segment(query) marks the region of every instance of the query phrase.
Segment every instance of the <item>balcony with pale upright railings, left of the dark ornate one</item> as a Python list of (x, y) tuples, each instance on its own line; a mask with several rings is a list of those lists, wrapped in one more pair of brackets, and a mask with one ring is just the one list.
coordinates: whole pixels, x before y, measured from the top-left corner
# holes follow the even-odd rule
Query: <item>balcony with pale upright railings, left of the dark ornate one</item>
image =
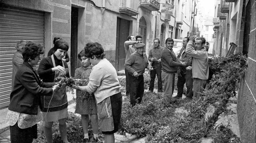
[(119, 8), (119, 12), (129, 16), (136, 16), (139, 14), (137, 11), (138, 7), (139, 0), (122, 0), (122, 5)]

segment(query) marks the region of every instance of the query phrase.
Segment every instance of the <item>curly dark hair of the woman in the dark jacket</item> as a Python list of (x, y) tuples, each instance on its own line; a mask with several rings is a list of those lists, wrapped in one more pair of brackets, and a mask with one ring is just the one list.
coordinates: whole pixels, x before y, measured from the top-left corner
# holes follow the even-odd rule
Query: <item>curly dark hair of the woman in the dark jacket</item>
[(24, 61), (34, 60), (40, 54), (43, 54), (44, 48), (40, 43), (28, 41), (22, 49)]

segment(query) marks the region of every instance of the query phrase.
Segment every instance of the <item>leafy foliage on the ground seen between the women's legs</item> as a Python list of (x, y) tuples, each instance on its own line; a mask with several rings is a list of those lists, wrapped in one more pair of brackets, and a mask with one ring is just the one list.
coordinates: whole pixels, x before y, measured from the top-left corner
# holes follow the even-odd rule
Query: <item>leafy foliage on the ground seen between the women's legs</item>
[[(68, 140), (72, 143), (82, 143), (82, 139), (84, 138), (83, 127), (81, 125), (81, 117), (75, 115), (72, 112), (69, 112), (69, 116), (67, 117), (67, 135)], [(41, 121), (37, 124), (37, 139), (33, 140), (33, 143), (47, 143), (45, 136), (44, 136), (44, 122)], [(59, 133), (59, 125), (58, 122), (55, 121), (52, 127), (53, 133), (53, 143), (61, 143), (61, 136)], [(93, 131), (91, 123), (88, 128), (89, 138), (93, 139)], [(100, 139), (103, 140), (103, 134), (101, 131), (98, 131), (98, 136)]]

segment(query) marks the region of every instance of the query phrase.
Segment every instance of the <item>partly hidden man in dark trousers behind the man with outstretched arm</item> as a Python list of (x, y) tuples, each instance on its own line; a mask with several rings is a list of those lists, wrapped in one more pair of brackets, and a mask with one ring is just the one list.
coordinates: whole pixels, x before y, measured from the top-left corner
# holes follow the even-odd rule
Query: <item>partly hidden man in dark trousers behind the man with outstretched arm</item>
[[(185, 62), (186, 59), (188, 59), (189, 57), (187, 56), (186, 51), (186, 46), (187, 46), (187, 42), (189, 41), (189, 37), (185, 37), (183, 38), (183, 48), (180, 50), (180, 53), (178, 55), (178, 59), (181, 62)], [(177, 96), (175, 96), (174, 98), (182, 98), (182, 94), (183, 94), (183, 88), (184, 88), (184, 84), (186, 83), (186, 99), (192, 99), (193, 97), (193, 77), (192, 77), (192, 71), (191, 71), (191, 66), (188, 67), (181, 67), (180, 68), (180, 75), (178, 75), (178, 81), (177, 81), (177, 88), (178, 88), (178, 93)]]

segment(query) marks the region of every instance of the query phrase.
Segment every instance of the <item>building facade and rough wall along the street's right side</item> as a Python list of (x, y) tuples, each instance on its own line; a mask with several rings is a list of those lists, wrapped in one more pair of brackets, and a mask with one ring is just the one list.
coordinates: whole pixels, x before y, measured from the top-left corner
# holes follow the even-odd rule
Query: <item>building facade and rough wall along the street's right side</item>
[(256, 1), (217, 0), (215, 6), (220, 24), (214, 27), (214, 53), (225, 57), (242, 52), (248, 57), (239, 85), (237, 113), (241, 142), (256, 142)]

